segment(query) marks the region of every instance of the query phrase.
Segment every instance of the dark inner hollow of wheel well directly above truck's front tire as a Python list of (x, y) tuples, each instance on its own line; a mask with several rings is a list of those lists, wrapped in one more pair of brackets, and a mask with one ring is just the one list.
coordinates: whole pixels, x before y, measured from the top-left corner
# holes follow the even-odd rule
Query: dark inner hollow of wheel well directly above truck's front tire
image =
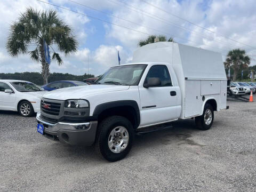
[(138, 122), (140, 119), (137, 119), (136, 111), (131, 106), (120, 106), (103, 110), (98, 115), (98, 121), (101, 122), (103, 119), (114, 115), (127, 118), (132, 123), (134, 129), (137, 129), (139, 126)]

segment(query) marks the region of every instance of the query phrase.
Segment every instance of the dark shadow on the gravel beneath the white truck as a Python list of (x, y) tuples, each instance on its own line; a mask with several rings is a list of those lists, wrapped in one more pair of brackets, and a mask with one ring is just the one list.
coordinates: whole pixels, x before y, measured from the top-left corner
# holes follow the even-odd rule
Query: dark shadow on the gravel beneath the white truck
[[(170, 124), (168, 124), (170, 125)], [(204, 147), (192, 139), (190, 139), (193, 133), (199, 132), (196, 129), (193, 119), (179, 120), (171, 124), (173, 127), (169, 129), (151, 132), (143, 135), (135, 135), (132, 154), (140, 154), (141, 151), (154, 146), (155, 148), (162, 145), (190, 145), (197, 147)], [(63, 145), (59, 142), (55, 142), (52, 145), (48, 145), (44, 150), (46, 158), (63, 158), (66, 157), (69, 161), (95, 164), (96, 162), (107, 161), (100, 158), (94, 146), (83, 147), (83, 146), (68, 146)], [(48, 151), (51, 151), (49, 153)], [(129, 157), (127, 157), (129, 158)]]

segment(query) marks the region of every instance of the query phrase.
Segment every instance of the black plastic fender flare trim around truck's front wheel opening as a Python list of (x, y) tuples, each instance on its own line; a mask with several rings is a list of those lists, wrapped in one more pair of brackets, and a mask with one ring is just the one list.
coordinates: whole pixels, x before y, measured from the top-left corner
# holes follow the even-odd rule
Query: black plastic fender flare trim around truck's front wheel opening
[(140, 124), (140, 109), (138, 106), (138, 103), (134, 100), (120, 100), (120, 101), (110, 101), (106, 103), (101, 103), (100, 105), (96, 106), (93, 111), (93, 116), (100, 115), (102, 111), (114, 107), (124, 107), (124, 106), (130, 106), (136, 111), (136, 117), (137, 117), (137, 123)]

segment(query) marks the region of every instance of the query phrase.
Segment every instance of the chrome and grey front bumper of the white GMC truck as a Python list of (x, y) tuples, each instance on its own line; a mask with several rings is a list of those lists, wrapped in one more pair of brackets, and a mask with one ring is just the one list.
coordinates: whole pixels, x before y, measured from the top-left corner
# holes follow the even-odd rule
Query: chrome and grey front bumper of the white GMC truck
[(68, 145), (91, 146), (97, 131), (97, 121), (84, 123), (46, 122), (40, 113), (36, 116), (37, 123), (44, 125), (44, 136), (51, 140), (60, 141)]

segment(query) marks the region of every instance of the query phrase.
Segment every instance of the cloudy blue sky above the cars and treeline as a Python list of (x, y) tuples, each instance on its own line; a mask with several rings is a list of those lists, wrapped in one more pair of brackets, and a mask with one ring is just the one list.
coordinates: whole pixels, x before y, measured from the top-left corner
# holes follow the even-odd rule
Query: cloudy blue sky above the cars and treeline
[(165, 35), (178, 43), (217, 51), (223, 60), (229, 50), (244, 49), (251, 65), (256, 65), (255, 0), (42, 1), (65, 9), (37, 0), (0, 1), (0, 73), (41, 71), (40, 63), (28, 54), (12, 58), (5, 48), (10, 25), (28, 7), (57, 10), (79, 42), (77, 52), (68, 57), (59, 52), (63, 64), (52, 61), (51, 73), (101, 75), (118, 65), (117, 51), (121, 64), (130, 62), (138, 42), (148, 35)]

